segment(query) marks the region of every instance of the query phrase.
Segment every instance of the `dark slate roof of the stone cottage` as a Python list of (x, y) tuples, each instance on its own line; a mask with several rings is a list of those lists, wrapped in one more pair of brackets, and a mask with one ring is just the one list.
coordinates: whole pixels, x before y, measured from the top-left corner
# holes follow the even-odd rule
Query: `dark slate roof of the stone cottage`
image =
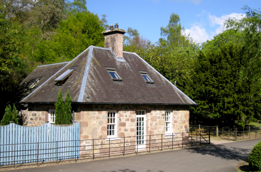
[[(21, 84), (42, 75), (44, 80), (21, 103), (54, 103), (60, 89), (64, 97), (69, 89), (72, 103), (196, 105), (135, 53), (123, 52), (123, 57), (90, 46), (72, 61), (38, 66)], [(72, 66), (76, 69), (65, 84), (55, 85), (54, 80)], [(113, 81), (106, 67), (115, 68), (122, 81)], [(146, 71), (154, 84), (147, 84), (139, 71)]]

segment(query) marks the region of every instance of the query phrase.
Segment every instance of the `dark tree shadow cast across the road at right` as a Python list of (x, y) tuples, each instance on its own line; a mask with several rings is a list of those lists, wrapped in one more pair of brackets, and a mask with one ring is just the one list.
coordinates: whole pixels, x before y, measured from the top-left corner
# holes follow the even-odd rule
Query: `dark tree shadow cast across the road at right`
[(222, 145), (210, 145), (205, 147), (190, 148), (191, 153), (200, 153), (202, 155), (211, 155), (226, 160), (243, 160), (246, 161), (251, 152), (251, 149), (243, 149), (238, 147), (229, 147)]

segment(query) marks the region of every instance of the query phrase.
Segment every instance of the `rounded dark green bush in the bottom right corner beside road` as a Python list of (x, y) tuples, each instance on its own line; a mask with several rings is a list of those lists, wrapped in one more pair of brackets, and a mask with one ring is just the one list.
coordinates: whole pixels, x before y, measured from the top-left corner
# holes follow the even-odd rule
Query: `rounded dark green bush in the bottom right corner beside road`
[(248, 157), (249, 166), (254, 171), (261, 171), (261, 142), (255, 145)]

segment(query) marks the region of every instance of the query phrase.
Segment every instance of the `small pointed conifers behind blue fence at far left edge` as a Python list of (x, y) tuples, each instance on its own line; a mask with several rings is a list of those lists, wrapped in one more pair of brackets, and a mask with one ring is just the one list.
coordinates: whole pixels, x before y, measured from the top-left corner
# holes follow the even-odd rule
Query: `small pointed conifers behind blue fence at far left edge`
[(18, 124), (18, 112), (16, 107), (13, 106), (13, 110), (10, 105), (6, 106), (5, 113), (1, 120), (0, 125), (8, 125), (10, 121), (13, 121), (15, 124)]

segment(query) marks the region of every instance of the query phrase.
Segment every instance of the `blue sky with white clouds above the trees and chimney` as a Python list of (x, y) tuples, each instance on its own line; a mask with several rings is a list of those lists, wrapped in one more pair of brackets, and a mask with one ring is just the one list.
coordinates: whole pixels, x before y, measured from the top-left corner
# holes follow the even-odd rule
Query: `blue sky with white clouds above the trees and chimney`
[(117, 22), (120, 29), (137, 29), (153, 43), (171, 13), (178, 14), (186, 33), (202, 43), (222, 32), (228, 17), (242, 17), (244, 5), (259, 9), (261, 0), (87, 0), (88, 10), (100, 18), (105, 14), (108, 25)]

